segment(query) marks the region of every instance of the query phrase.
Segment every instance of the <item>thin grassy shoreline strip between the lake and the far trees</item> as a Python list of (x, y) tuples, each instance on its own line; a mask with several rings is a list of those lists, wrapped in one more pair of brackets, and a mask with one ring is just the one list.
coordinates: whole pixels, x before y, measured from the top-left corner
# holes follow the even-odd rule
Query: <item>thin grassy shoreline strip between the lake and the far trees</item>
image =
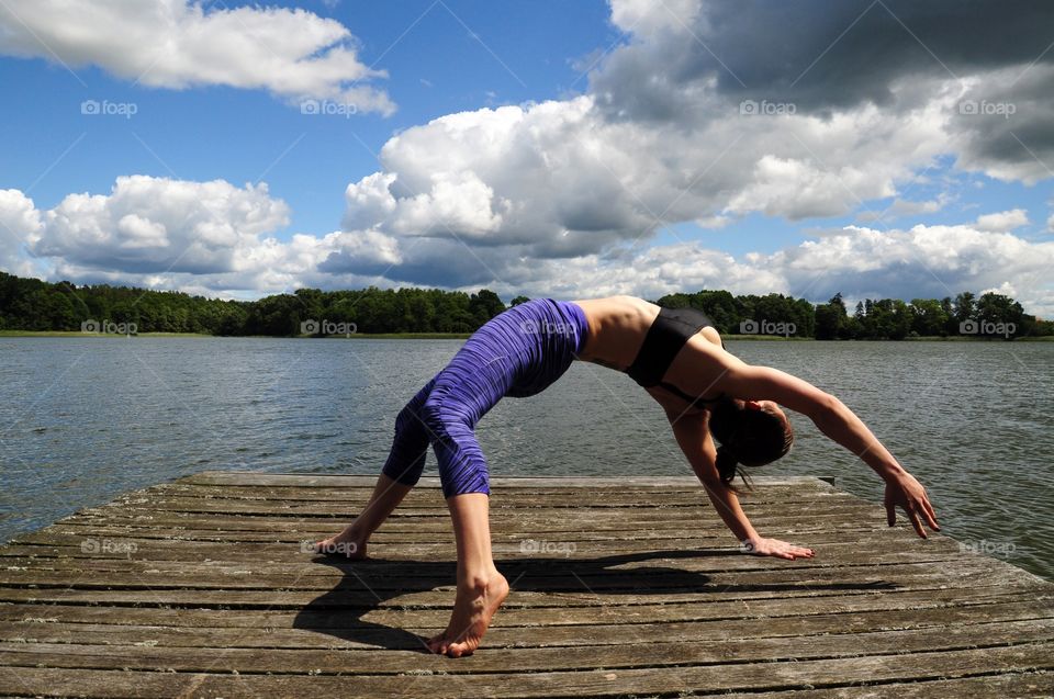
[[(323, 339), (323, 340), (344, 340), (344, 339), (374, 339), (374, 340), (463, 340), (468, 339), (472, 334), (471, 332), (352, 332), (348, 336), (343, 335), (330, 335), (323, 338), (314, 338), (306, 335), (291, 336), (291, 337), (281, 337), (273, 335), (237, 335), (237, 336), (226, 336), (226, 335), (208, 335), (205, 332), (139, 332), (134, 336), (124, 336), (116, 334), (94, 334), (94, 332), (81, 332), (79, 330), (0, 330), (0, 338), (11, 337), (56, 337), (56, 338), (71, 338), (71, 337), (90, 337), (98, 339), (125, 339), (128, 337), (150, 337), (150, 338), (227, 338), (227, 339), (240, 339), (240, 338), (268, 338), (268, 339), (301, 339), (301, 340), (311, 340), (311, 339)], [(993, 337), (974, 337), (969, 335), (949, 335), (942, 337), (940, 335), (924, 336), (924, 337), (906, 337), (902, 340), (888, 340), (888, 339), (860, 339), (860, 340), (817, 340), (812, 337), (784, 337), (782, 335), (724, 335), (721, 336), (726, 340), (736, 341), (736, 340), (756, 340), (761, 342), (778, 342), (778, 341), (795, 341), (795, 342), (995, 342), (1002, 341), (1000, 338)], [(1054, 336), (1045, 337), (1019, 337), (1013, 339), (1014, 342), (1050, 342), (1054, 341)]]

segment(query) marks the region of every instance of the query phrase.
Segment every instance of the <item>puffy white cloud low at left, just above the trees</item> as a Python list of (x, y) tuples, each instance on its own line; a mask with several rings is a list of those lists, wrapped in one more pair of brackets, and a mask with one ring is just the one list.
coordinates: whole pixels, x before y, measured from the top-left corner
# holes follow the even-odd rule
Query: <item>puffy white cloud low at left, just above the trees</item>
[(44, 212), (18, 190), (0, 191), (0, 268), (34, 275), (46, 262), (53, 280), (251, 298), (310, 284), (386, 285), (382, 274), (402, 261), (395, 239), (377, 230), (279, 240), (289, 215), (267, 184), (224, 180), (120, 177), (109, 194), (69, 194)]

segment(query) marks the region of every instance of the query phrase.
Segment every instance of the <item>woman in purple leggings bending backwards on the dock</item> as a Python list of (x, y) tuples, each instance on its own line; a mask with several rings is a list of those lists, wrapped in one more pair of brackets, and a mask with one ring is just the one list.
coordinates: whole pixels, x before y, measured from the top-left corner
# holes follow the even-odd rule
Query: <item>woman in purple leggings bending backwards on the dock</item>
[(508, 595), (491, 555), (489, 474), (473, 428), (502, 396), (543, 391), (575, 359), (625, 371), (662, 406), (710, 501), (751, 553), (789, 560), (814, 555), (811, 549), (761, 537), (732, 487), (739, 463), (762, 465), (789, 449), (793, 432), (781, 405), (808, 416), (885, 480), (890, 527), (900, 506), (920, 537), (926, 537), (923, 521), (940, 529), (926, 489), (848, 407), (800, 379), (729, 354), (702, 313), (660, 308), (632, 296), (536, 298), (483, 325), (406, 404), (362, 514), (315, 544), (322, 553), (363, 557), (370, 534), (421, 476), (430, 444), (458, 552), (453, 612), (446, 631), (428, 640), (434, 653), (471, 654)]

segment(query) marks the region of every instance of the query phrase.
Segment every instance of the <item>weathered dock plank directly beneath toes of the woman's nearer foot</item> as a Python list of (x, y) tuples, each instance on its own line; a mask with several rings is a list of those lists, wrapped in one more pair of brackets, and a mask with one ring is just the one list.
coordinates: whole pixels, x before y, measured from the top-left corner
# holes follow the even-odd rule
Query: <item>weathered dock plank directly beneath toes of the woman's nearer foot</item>
[[(422, 645), (417, 650), (424, 651), (423, 641), (422, 639)], [(231, 649), (215, 647), (213, 644), (199, 649), (153, 645), (99, 647), (77, 643), (0, 643), (0, 665), (108, 669), (113, 667), (113, 656), (120, 655), (121, 667), (137, 670), (165, 667), (181, 673), (203, 673), (210, 672), (222, 662), (225, 667), (235, 667), (239, 673), (295, 674), (303, 672), (305, 667), (340, 667), (346, 675), (400, 675), (410, 672), (479, 674), (526, 673), (538, 668), (661, 668), (717, 665), (729, 661), (806, 661), (1024, 644), (1045, 645), (1051, 654), (1050, 667), (1054, 668), (1054, 628), (1038, 620), (960, 624), (941, 629), (834, 633), (796, 639), (729, 639), (720, 644), (671, 642), (660, 636), (648, 644), (647, 653), (641, 653), (638, 646), (629, 644), (514, 650), (492, 647), (490, 653), (466, 658), (464, 663), (450, 663), (450, 658), (427, 652), (389, 650)], [(1001, 667), (982, 658), (973, 669), (990, 672)]]

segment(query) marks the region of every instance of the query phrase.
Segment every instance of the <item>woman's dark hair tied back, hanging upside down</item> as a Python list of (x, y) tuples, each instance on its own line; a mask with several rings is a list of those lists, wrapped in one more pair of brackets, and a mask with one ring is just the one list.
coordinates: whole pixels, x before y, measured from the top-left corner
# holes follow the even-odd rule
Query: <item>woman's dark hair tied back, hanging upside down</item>
[(794, 443), (790, 420), (781, 417), (774, 408), (747, 408), (728, 397), (714, 406), (709, 427), (721, 443), (717, 449), (717, 472), (721, 483), (729, 487), (737, 474), (750, 486), (747, 474), (737, 464), (762, 466), (790, 451)]

